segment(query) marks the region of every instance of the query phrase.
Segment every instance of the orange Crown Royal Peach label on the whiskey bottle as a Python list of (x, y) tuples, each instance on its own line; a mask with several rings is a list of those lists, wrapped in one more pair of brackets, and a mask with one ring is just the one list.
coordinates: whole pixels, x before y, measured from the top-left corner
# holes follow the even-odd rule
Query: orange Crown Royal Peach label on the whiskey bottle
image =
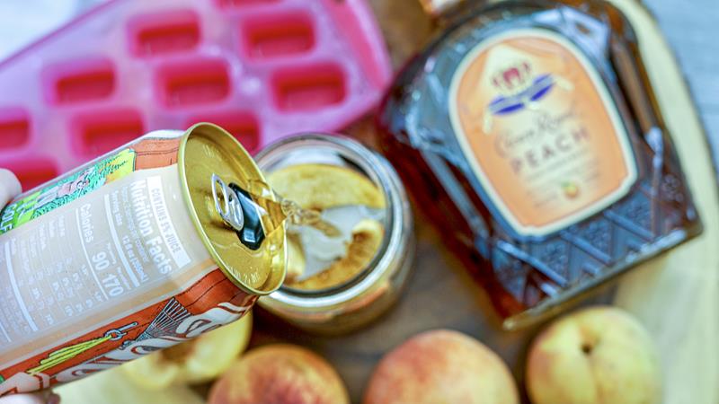
[(519, 235), (575, 224), (636, 180), (606, 84), (553, 31), (515, 30), (473, 48), (452, 78), (449, 115), (484, 198)]

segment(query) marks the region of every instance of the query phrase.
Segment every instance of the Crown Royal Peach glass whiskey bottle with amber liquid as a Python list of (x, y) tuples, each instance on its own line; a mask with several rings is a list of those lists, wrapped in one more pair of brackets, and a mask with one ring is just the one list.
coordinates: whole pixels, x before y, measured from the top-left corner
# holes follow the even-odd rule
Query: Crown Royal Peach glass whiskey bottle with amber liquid
[(445, 24), (397, 76), (380, 141), (504, 328), (701, 233), (617, 8), (426, 3)]

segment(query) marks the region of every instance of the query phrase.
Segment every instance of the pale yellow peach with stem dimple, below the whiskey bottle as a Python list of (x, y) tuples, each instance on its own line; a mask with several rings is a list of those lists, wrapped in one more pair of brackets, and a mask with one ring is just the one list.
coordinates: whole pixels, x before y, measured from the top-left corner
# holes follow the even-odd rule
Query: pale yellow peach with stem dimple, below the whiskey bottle
[(550, 324), (527, 361), (535, 404), (653, 404), (661, 401), (652, 338), (629, 313), (592, 307)]

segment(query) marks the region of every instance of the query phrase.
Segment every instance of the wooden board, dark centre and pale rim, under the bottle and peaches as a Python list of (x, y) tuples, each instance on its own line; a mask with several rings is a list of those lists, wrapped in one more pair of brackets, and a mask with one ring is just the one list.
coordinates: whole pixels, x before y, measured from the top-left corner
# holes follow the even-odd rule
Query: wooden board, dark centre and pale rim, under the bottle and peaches
[[(584, 304), (611, 303), (634, 312), (652, 332), (659, 347), (664, 370), (666, 403), (716, 404), (716, 343), (719, 341), (719, 217), (715, 178), (703, 131), (680, 73), (670, 53), (656, 39), (656, 27), (648, 15), (637, 11), (633, 0), (617, 0), (632, 17), (643, 22), (639, 32), (653, 80), (661, 83), (662, 106), (672, 112), (666, 117), (678, 142), (690, 185), (706, 225), (706, 232), (670, 254), (654, 259), (596, 291)], [(395, 66), (413, 54), (430, 31), (413, 0), (374, 0), (372, 4)], [(371, 141), (371, 124), (360, 122), (351, 133)], [(504, 332), (499, 328), (484, 291), (467, 276), (465, 269), (427, 226), (422, 212), (416, 213), (419, 242), (413, 277), (400, 303), (383, 318), (357, 333), (341, 338), (317, 338), (278, 324), (258, 313), (253, 344), (275, 341), (311, 347), (333, 363), (347, 383), (354, 402), (361, 400), (368, 377), (379, 358), (404, 339), (425, 329), (458, 329), (480, 339), (498, 352), (514, 373), (523, 392), (524, 357), (537, 328)], [(526, 400), (526, 397), (523, 397)]]

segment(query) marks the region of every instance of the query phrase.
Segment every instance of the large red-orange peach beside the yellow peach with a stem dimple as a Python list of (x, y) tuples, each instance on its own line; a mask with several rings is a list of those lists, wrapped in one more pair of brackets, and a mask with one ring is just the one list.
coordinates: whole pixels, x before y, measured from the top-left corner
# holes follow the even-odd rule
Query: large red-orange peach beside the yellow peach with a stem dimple
[(438, 329), (408, 339), (377, 366), (365, 404), (519, 402), (506, 364), (475, 338)]

